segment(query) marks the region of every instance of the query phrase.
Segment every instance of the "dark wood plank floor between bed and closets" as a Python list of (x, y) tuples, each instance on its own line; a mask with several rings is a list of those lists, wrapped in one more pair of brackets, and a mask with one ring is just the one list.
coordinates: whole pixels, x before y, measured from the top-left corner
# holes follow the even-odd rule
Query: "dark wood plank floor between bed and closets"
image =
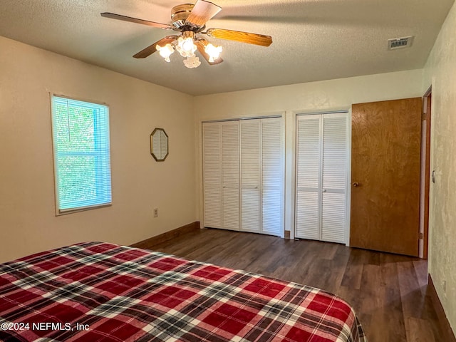
[(422, 259), (219, 229), (147, 248), (330, 291), (353, 306), (369, 342), (444, 341)]

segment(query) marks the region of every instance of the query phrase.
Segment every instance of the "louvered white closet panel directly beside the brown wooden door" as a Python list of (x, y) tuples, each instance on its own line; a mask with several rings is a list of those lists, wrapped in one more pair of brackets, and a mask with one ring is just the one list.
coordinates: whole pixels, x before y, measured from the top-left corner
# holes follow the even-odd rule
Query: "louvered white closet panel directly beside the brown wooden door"
[(347, 115), (323, 115), (321, 239), (345, 243)]

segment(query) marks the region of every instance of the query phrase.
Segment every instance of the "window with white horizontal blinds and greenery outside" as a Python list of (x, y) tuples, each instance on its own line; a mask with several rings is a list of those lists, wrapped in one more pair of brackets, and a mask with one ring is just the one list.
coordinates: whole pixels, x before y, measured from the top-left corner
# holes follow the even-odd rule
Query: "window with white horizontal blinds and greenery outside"
[(57, 214), (111, 204), (108, 106), (51, 102)]

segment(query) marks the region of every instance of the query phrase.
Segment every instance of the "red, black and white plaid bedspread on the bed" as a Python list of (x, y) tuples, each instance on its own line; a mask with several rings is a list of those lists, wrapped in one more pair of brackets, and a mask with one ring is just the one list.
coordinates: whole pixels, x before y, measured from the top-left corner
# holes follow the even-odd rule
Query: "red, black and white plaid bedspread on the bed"
[(366, 341), (309, 286), (88, 242), (0, 265), (0, 341)]

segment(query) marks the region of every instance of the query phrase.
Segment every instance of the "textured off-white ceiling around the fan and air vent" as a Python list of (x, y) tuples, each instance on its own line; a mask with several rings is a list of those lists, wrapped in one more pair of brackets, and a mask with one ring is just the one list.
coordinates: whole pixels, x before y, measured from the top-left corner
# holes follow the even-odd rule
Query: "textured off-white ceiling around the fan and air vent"
[[(101, 12), (170, 23), (180, 0), (0, 0), (0, 36), (192, 95), (423, 68), (454, 0), (214, 0), (207, 28), (272, 36), (269, 47), (207, 37), (223, 63), (132, 56), (170, 34)], [(172, 31), (171, 31), (172, 32)], [(173, 34), (173, 33), (171, 33)], [(388, 38), (415, 36), (387, 50)], [(202, 58), (201, 58), (202, 59)]]

